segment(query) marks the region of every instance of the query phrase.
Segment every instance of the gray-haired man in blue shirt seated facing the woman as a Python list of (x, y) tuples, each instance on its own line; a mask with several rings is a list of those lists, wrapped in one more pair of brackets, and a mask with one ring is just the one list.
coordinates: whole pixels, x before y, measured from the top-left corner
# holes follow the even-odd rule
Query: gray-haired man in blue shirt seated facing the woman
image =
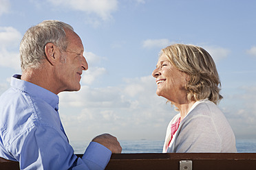
[(96, 136), (82, 158), (69, 144), (58, 115), (58, 93), (80, 90), (88, 69), (83, 43), (73, 28), (43, 21), (21, 40), (22, 75), (0, 97), (0, 157), (21, 169), (105, 169), (121, 153), (116, 137)]

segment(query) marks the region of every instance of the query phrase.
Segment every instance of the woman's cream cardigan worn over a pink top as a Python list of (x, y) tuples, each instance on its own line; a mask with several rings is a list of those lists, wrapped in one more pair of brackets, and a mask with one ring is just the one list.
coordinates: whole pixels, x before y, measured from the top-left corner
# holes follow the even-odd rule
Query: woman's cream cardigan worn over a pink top
[(179, 118), (180, 114), (176, 114), (167, 127), (163, 153), (237, 152), (231, 126), (222, 111), (208, 99), (193, 104), (166, 150), (171, 138), (171, 124)]

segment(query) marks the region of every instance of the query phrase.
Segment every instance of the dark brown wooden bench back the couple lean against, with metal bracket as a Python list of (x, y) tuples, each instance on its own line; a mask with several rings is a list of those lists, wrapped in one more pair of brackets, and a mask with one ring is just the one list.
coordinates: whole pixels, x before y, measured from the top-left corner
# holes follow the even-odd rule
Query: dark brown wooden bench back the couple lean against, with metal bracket
[[(0, 169), (17, 170), (19, 162), (0, 158)], [(250, 170), (256, 169), (256, 153), (112, 154), (106, 169)]]

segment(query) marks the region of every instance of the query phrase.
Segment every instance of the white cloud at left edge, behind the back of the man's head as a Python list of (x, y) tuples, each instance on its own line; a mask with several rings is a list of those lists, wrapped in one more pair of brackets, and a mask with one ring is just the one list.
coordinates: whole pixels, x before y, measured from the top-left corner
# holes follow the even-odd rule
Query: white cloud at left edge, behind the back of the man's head
[(19, 42), (21, 33), (13, 27), (0, 27), (0, 66), (20, 69)]

